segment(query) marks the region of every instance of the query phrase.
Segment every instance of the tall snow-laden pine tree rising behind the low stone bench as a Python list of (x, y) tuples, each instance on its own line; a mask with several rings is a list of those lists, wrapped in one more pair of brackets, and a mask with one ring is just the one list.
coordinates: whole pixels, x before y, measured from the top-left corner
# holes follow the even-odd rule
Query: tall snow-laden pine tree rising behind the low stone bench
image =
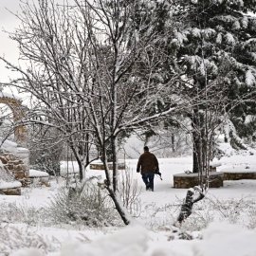
[(206, 135), (207, 112), (229, 114), (229, 141), (236, 147), (243, 146), (237, 138), (251, 135), (255, 126), (253, 118), (245, 123), (256, 114), (256, 17), (249, 14), (255, 10), (256, 1), (192, 0), (178, 1), (173, 11), (170, 58), (187, 87), (183, 96), (197, 97), (190, 113), (194, 173), (210, 160), (204, 145), (212, 142)]

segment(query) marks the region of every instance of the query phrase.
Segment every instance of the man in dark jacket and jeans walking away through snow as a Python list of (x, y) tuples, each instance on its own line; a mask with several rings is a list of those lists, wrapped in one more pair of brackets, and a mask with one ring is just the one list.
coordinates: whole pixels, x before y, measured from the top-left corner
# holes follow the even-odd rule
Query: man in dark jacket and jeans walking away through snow
[(137, 161), (137, 173), (141, 168), (140, 174), (146, 185), (146, 190), (154, 192), (155, 173), (159, 172), (158, 161), (154, 154), (149, 152), (147, 146), (144, 147), (144, 153), (139, 156)]

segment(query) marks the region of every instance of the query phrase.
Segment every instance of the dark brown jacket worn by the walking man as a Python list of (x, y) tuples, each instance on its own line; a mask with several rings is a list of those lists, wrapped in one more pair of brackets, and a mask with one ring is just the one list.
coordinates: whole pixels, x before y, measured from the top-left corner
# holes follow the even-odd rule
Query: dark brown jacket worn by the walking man
[(150, 152), (144, 152), (142, 155), (139, 156), (137, 161), (137, 173), (141, 168), (140, 173), (154, 173), (159, 171), (158, 161), (154, 154)]

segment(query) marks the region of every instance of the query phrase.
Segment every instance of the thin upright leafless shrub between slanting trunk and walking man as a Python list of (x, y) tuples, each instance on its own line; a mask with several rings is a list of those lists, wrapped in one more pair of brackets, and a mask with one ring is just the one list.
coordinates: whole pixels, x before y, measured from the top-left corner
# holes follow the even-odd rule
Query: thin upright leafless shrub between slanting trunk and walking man
[(122, 205), (132, 216), (138, 217), (141, 211), (139, 199), (141, 189), (137, 186), (137, 179), (133, 178), (133, 172), (128, 167), (119, 172), (121, 172), (119, 175), (119, 195)]

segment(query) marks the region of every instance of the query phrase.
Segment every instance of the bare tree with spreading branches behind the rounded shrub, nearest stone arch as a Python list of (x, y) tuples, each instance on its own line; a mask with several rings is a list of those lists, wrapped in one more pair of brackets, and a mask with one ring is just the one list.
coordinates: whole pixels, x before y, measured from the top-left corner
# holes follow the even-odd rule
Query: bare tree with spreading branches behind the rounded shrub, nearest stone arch
[(80, 38), (83, 28), (76, 30), (78, 21), (71, 17), (77, 15), (66, 3), (25, 3), (22, 13), (18, 16), (21, 25), (10, 37), (18, 43), (25, 67), (6, 61), (22, 75), (10, 84), (20, 92), (32, 94), (27, 123), (59, 130), (61, 136), (56, 137), (56, 143), (68, 144), (78, 161), (82, 180), (92, 160), (89, 148), (94, 143), (80, 97), (86, 76), (82, 53), (86, 40)]

